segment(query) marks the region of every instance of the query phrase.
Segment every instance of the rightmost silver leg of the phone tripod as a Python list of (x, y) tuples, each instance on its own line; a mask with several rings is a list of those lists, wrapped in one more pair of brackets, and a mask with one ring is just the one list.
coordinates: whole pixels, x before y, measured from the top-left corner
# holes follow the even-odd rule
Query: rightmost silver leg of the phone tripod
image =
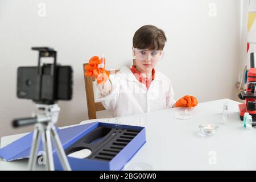
[(53, 140), (54, 146), (56, 148), (57, 155), (59, 157), (61, 166), (63, 167), (63, 169), (65, 171), (71, 171), (71, 167), (69, 166), (67, 156), (66, 156), (64, 149), (61, 145), (59, 135), (57, 134), (57, 131), (55, 130), (55, 126), (51, 127), (51, 134), (52, 134), (52, 140)]

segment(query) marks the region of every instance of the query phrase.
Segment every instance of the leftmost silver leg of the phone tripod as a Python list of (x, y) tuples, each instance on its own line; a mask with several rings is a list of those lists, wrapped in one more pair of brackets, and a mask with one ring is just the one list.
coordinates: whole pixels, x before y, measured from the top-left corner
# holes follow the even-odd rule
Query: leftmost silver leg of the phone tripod
[(37, 152), (39, 147), (39, 139), (40, 139), (40, 128), (39, 126), (36, 126), (33, 134), (33, 139), (32, 139), (30, 159), (28, 159), (28, 170), (30, 171), (35, 170), (36, 158), (38, 156)]

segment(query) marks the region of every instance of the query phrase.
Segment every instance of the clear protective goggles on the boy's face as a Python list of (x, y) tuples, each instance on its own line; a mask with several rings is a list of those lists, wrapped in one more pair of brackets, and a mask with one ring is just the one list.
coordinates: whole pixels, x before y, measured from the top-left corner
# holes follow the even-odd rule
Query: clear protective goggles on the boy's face
[(133, 48), (133, 57), (137, 60), (161, 60), (163, 59), (163, 50), (148, 50)]

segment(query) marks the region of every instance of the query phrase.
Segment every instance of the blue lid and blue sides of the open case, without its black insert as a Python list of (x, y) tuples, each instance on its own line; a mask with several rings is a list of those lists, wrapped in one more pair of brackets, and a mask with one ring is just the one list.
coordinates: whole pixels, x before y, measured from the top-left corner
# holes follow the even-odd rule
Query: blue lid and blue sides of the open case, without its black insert
[[(90, 134), (91, 131), (94, 131), (98, 127), (110, 127), (112, 129), (122, 129), (125, 131), (137, 130), (138, 133), (109, 161), (87, 158), (78, 159), (68, 156), (68, 162), (72, 170), (121, 170), (123, 166), (136, 154), (139, 148), (141, 148), (146, 142), (146, 131), (144, 127), (115, 125), (113, 123), (88, 123), (85, 125), (61, 129), (58, 130), (57, 133), (59, 134), (64, 150), (67, 151), (67, 149), (72, 147), (73, 144), (79, 142), (83, 137), (86, 137), (86, 135)], [(30, 155), (29, 152), (31, 148), (31, 141), (32, 133), (16, 140), (6, 147), (1, 148), (0, 157), (6, 161), (28, 158)], [(52, 148), (55, 169), (62, 170), (63, 168), (61, 167), (59, 158), (57, 157), (57, 152), (53, 145)], [(39, 151), (40, 150), (43, 150), (42, 142), (40, 142)]]

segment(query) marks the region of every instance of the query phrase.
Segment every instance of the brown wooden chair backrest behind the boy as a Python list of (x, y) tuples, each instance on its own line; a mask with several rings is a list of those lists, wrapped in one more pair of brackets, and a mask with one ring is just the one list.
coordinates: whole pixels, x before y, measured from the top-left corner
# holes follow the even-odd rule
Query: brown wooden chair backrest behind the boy
[[(92, 76), (85, 76), (85, 63), (82, 65), (84, 69), (84, 85), (85, 85), (85, 94), (86, 94), (86, 101), (87, 101), (87, 110), (88, 110), (88, 118), (89, 119), (96, 119), (96, 111), (105, 110), (105, 107), (102, 105), (101, 102), (95, 102), (94, 100), (94, 90), (93, 90), (93, 81), (95, 81), (95, 77)], [(115, 70), (114, 72), (109, 72), (110, 74), (115, 74), (119, 70)]]

